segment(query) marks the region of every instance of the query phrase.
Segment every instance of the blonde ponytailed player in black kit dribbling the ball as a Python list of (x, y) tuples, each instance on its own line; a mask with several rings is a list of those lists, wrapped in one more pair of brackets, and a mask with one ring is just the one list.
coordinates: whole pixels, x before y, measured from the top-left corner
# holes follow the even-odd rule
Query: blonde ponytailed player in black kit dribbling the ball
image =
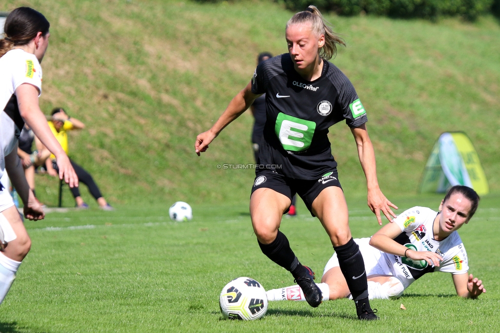
[[(259, 95), (266, 94), (266, 124), (260, 164), (250, 198), (252, 225), (262, 252), (286, 268), (302, 288), (309, 305), (317, 307), (321, 290), (314, 273), (303, 266), (279, 231), (281, 217), (297, 193), (321, 221), (339, 258), (339, 265), (356, 303), (358, 318), (375, 320), (368, 301), (363, 257), (353, 241), (348, 211), (331, 155), (328, 128), (345, 119), (355, 137), (367, 181), (368, 206), (382, 224), (380, 212), (391, 220), (390, 207), (377, 180), (373, 146), (366, 131), (366, 112), (349, 79), (328, 63), (336, 44), (345, 45), (325, 24), (319, 10), (309, 6), (286, 25), (288, 54), (259, 64), (251, 82), (229, 103), (214, 126), (196, 138), (198, 155), (227, 124), (242, 114)], [(273, 169), (274, 166), (274, 169)]]

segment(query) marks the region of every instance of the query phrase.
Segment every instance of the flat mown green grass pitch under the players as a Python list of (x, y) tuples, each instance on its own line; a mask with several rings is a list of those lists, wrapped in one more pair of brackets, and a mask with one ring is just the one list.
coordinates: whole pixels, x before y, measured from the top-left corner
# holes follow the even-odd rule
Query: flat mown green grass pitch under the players
[[(402, 212), (417, 204), (436, 209), (439, 200), (394, 201)], [(484, 198), (460, 232), (470, 273), (483, 279), (487, 294), (461, 299), (449, 274), (428, 274), (400, 300), (372, 301), (381, 320), (370, 323), (356, 319), (349, 300), (316, 309), (305, 302), (270, 302), (262, 320), (223, 320), (218, 296), (228, 281), (249, 276), (266, 289), (293, 284), (288, 272), (260, 252), (247, 202), (193, 206), (194, 219), (182, 223), (169, 219), (168, 205), (49, 213), (44, 221), (26, 222), (32, 249), (0, 306), (0, 331), (494, 331), (500, 326), (496, 202), (497, 197)], [(365, 198), (348, 204), (353, 236), (378, 229)], [(320, 278), (332, 248), (302, 203), (298, 211), (298, 217), (283, 218), (281, 230)]]

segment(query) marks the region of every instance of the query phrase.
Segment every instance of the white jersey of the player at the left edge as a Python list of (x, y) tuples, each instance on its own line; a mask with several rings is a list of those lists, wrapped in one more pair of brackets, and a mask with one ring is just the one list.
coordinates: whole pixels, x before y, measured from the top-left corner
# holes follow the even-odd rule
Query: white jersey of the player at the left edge
[(0, 177), (5, 171), (5, 156), (19, 137), (24, 120), (19, 114), (15, 90), (31, 84), (41, 94), (41, 67), (34, 54), (21, 49), (10, 50), (0, 58)]

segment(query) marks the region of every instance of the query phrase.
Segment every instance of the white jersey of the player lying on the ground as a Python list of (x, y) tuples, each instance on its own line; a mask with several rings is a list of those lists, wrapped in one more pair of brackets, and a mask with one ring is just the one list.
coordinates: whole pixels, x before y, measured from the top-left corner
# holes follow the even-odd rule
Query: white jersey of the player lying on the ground
[(382, 253), (392, 275), (399, 278), (405, 288), (424, 274), (436, 270), (451, 274), (464, 274), (469, 270), (467, 252), (456, 231), (442, 241), (434, 239), (433, 224), (437, 214), (430, 208), (415, 206), (394, 219), (393, 223), (397, 223), (402, 231), (395, 241), (415, 251), (435, 252), (443, 258), (439, 267), (434, 267), (425, 260), (415, 261)]

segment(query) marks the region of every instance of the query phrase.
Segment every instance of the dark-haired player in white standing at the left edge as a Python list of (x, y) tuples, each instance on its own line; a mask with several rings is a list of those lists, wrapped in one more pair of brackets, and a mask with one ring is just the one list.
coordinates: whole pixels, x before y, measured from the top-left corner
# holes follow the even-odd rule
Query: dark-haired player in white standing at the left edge
[[(70, 187), (78, 185), (68, 156), (50, 131), (38, 106), (42, 79), (40, 61), (49, 44), (49, 26), (41, 13), (19, 7), (7, 16), (5, 37), (0, 39), (0, 177), (8, 172), (23, 200), (24, 216), (35, 221), (43, 219), (45, 214), (30, 190), (23, 165), (17, 157), (17, 139), (25, 121), (57, 156), (59, 177), (64, 177)], [(0, 185), (0, 303), (30, 247), (31, 240), (9, 190)]]

